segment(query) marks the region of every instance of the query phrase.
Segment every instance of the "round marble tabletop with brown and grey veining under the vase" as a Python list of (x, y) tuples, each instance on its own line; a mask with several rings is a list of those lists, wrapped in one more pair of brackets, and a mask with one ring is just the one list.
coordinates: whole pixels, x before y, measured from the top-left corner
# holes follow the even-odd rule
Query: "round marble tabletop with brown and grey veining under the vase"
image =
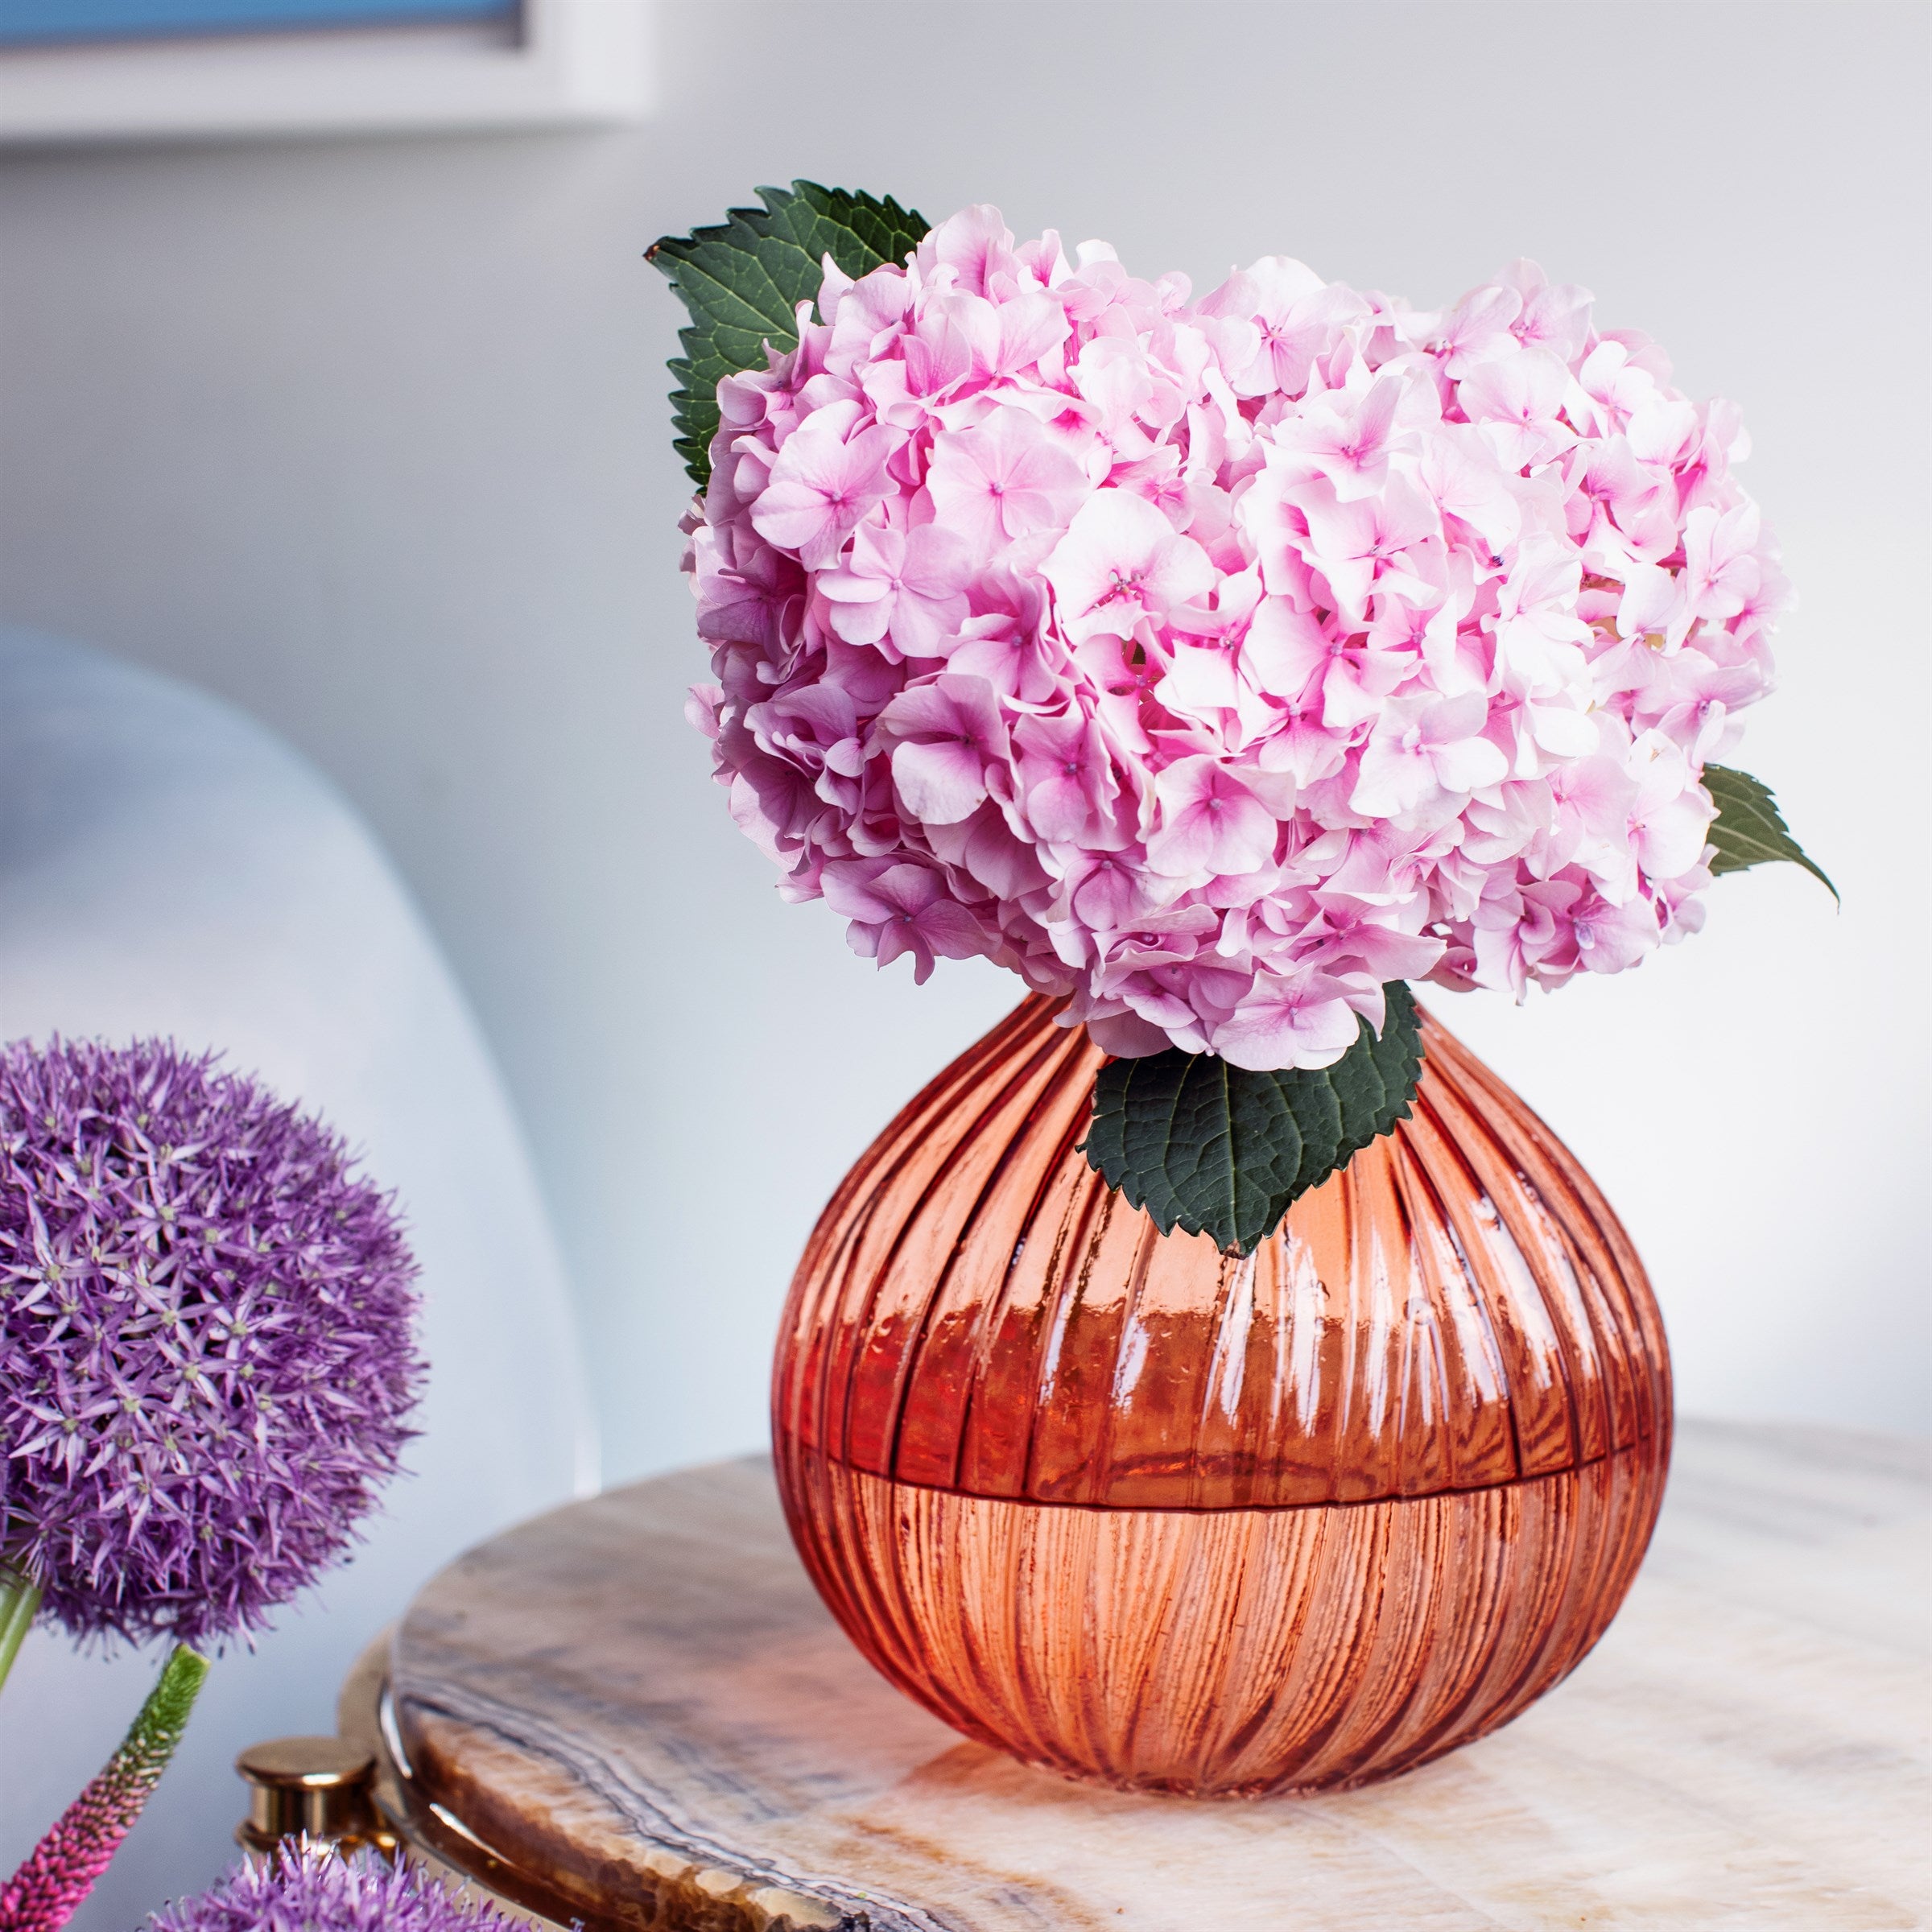
[(1922, 1443), (1687, 1424), (1629, 1604), (1526, 1716), (1364, 1791), (1192, 1803), (916, 1710), (811, 1594), (765, 1464), (728, 1463), (435, 1578), (390, 1735), (446, 1843), (591, 1932), (1903, 1932), (1932, 1891), (1926, 1505)]

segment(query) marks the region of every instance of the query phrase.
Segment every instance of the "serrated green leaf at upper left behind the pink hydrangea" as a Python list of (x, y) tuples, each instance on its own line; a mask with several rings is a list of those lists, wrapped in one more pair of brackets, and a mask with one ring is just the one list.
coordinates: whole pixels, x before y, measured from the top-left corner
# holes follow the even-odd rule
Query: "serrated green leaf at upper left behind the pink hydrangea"
[(678, 330), (684, 355), (670, 363), (676, 446), (692, 481), (711, 481), (711, 439), (719, 427), (719, 383), (765, 367), (765, 344), (798, 346), (798, 303), (813, 301), (825, 257), (858, 278), (904, 261), (925, 238), (923, 216), (896, 201), (854, 195), (817, 182), (757, 189), (763, 209), (732, 209), (723, 226), (665, 236), (645, 251), (670, 278), (692, 327)]

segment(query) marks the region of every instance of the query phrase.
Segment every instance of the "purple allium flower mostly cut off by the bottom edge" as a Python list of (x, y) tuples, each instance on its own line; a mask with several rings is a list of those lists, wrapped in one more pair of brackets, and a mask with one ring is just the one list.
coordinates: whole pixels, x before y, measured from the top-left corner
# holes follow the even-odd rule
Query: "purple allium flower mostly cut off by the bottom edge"
[(479, 1899), (375, 1853), (340, 1859), (284, 1841), (272, 1864), (238, 1864), (193, 1899), (153, 1913), (147, 1932), (522, 1932)]

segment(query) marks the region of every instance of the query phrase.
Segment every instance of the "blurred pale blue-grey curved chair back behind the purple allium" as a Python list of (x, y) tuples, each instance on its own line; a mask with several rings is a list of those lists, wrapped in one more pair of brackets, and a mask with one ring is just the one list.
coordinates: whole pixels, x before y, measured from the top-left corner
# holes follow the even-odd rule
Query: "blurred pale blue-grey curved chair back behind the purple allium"
[[(396, 1188), (429, 1393), (355, 1559), (224, 1658), (79, 1932), (234, 1855), (234, 1754), (334, 1729), (357, 1650), (502, 1524), (595, 1488), (572, 1306), (464, 997), (342, 796), (261, 724), (93, 649), (0, 632), (0, 1034), (172, 1034), (321, 1111)], [(37, 1631), (0, 1696), (0, 1874), (106, 1758), (155, 1656)]]

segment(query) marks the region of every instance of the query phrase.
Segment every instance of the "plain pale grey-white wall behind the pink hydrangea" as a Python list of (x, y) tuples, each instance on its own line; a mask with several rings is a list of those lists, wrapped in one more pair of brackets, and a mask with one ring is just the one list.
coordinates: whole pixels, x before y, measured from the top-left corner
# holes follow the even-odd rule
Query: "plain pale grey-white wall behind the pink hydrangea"
[[(363, 806), (483, 1016), (599, 1345), (607, 1468), (753, 1443), (844, 1163), (1014, 997), (781, 906), (680, 719), (676, 313), (794, 174), (1453, 298), (1517, 253), (1735, 396), (1803, 609), (1743, 763), (1845, 893), (1451, 1024), (1596, 1169), (1687, 1408), (1926, 1428), (1926, 14), (668, 8), (630, 133), (4, 168), (4, 611), (199, 678)], [(1443, 1001), (1439, 1001), (1443, 1005)]]

